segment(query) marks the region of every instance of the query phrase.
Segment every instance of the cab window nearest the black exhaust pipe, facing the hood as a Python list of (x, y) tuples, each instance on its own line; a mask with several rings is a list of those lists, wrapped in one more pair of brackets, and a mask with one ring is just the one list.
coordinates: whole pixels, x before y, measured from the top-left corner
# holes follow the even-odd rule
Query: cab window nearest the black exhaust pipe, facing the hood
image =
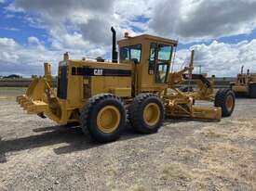
[(137, 59), (141, 62), (141, 45), (129, 45), (120, 48), (120, 59)]

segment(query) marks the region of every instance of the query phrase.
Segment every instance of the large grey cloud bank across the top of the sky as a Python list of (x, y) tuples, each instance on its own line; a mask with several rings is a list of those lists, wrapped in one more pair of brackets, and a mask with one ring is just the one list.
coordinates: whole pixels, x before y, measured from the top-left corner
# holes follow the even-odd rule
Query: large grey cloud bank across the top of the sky
[[(182, 42), (249, 33), (256, 27), (256, 0), (16, 0), (8, 9), (36, 15), (28, 17), (30, 22), (48, 31), (61, 27), (65, 29), (61, 32), (80, 32), (85, 41), (104, 45), (103, 37), (108, 37), (106, 31), (112, 25), (121, 31), (136, 28)], [(149, 20), (134, 21), (139, 16)]]

